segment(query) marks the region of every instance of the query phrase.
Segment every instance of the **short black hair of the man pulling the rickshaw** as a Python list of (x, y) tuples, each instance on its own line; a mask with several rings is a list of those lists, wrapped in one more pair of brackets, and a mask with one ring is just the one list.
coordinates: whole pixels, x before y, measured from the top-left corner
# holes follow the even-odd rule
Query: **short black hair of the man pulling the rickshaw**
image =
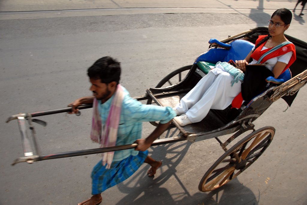
[(110, 83), (115, 81), (119, 84), (120, 79), (120, 63), (111, 58), (105, 56), (98, 59), (91, 67), (87, 69), (87, 75), (92, 79), (100, 79), (102, 83)]

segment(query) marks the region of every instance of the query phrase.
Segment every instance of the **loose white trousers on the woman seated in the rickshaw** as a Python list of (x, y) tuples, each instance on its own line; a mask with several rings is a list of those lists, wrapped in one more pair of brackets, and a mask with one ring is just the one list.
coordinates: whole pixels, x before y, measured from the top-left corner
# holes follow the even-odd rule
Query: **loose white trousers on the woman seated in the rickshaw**
[(200, 122), (210, 109), (223, 110), (241, 92), (241, 81), (234, 78), (223, 68), (214, 68), (205, 75), (176, 105), (179, 113), (186, 113), (192, 123)]

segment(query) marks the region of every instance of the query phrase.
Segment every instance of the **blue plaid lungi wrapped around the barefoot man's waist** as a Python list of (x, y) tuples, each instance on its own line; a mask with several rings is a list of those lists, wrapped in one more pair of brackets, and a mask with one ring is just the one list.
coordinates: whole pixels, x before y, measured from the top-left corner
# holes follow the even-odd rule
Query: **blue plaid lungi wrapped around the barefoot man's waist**
[(113, 161), (110, 169), (106, 169), (106, 165), (103, 166), (100, 160), (91, 174), (92, 195), (100, 194), (107, 188), (128, 179), (143, 164), (147, 155), (148, 150), (139, 151), (136, 156), (130, 155), (122, 161)]

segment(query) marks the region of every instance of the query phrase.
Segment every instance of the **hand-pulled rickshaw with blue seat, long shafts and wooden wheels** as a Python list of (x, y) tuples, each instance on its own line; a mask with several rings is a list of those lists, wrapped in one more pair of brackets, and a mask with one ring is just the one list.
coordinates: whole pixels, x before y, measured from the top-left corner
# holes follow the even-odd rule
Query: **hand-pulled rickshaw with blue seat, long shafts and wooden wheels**
[[(174, 70), (163, 78), (155, 88), (147, 89), (146, 94), (134, 97), (134, 99), (147, 101), (147, 104), (155, 103), (160, 106), (174, 107), (179, 103), (181, 97), (188, 93), (217, 62), (244, 59), (253, 44), (255, 44), (258, 36), (266, 34), (268, 34), (267, 28), (258, 27), (235, 36), (229, 36), (221, 41), (210, 39), (209, 49), (200, 54), (192, 65)], [(240, 109), (231, 108), (231, 106), (224, 110), (212, 109), (202, 121), (184, 127), (173, 121), (172, 126), (177, 127), (179, 134), (170, 138), (157, 139), (153, 142), (152, 146), (157, 146), (185, 140), (194, 142), (196, 138), (201, 140), (215, 138), (220, 143), (225, 153), (216, 160), (200, 180), (198, 187), (200, 191), (208, 192), (221, 187), (237, 177), (260, 157), (270, 145), (275, 129), (274, 127), (266, 126), (255, 130), (253, 122), (279, 98), (283, 98), (290, 106), (298, 90), (307, 83), (307, 43), (288, 35), (285, 36), (296, 47), (297, 60), (290, 66), (291, 71), (284, 72), (277, 79), (273, 77), (267, 78), (267, 82), (270, 83), (268, 89), (255, 96), (251, 101), (244, 102)], [(86, 104), (78, 108), (81, 110), (91, 107), (91, 104)], [(43, 126), (46, 126), (46, 123), (42, 120), (34, 119), (34, 117), (70, 111), (71, 108), (68, 107), (10, 116), (6, 122), (17, 119), (24, 149), (24, 157), (15, 159), (12, 165), (19, 162), (33, 163), (34, 161), (48, 159), (134, 149), (137, 146), (134, 143), (106, 148), (42, 154), (38, 147), (33, 122)], [(157, 125), (156, 122), (151, 122), (151, 124)], [(28, 129), (31, 132), (31, 139), (27, 135)], [(245, 136), (244, 133), (247, 133), (247, 131), (252, 132)], [(218, 138), (230, 134), (232, 134), (231, 137), (224, 142)], [(239, 136), (241, 137), (242, 134), (245, 137), (236, 139)], [(229, 147), (230, 143), (235, 139), (238, 142)]]

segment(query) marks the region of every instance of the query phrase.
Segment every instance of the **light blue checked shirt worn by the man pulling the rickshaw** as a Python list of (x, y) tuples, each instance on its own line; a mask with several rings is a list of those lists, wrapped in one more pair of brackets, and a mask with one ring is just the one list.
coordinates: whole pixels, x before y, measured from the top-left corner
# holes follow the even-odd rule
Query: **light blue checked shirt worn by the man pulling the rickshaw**
[[(141, 139), (142, 122), (160, 121), (161, 124), (164, 124), (176, 116), (172, 108), (142, 104), (132, 99), (124, 87), (122, 89), (125, 97), (122, 101), (116, 146), (132, 144), (135, 140)], [(103, 104), (98, 101), (98, 110), (103, 124), (106, 123), (113, 98), (114, 95)], [(134, 149), (115, 151), (113, 161), (121, 161), (130, 155), (136, 156), (138, 151)]]

